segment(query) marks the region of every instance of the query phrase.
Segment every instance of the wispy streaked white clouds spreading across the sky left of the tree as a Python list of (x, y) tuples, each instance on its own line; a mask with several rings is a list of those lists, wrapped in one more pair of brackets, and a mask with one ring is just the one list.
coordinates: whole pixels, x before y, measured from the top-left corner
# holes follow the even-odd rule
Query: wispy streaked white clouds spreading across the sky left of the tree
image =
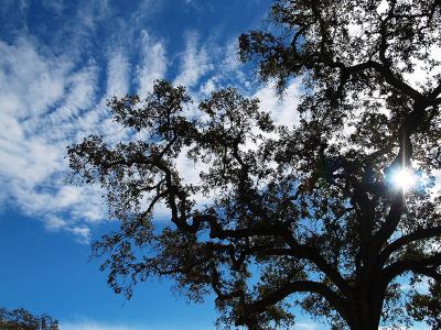
[[(100, 23), (115, 11), (107, 1), (80, 2), (72, 20), (54, 32), (50, 45), (29, 31), (12, 42), (0, 40), (0, 201), (41, 219), (49, 230), (72, 232), (82, 242), (89, 240), (90, 226), (107, 219), (107, 210), (97, 187), (64, 183), (65, 148), (92, 133), (104, 134), (110, 142), (127, 138), (111, 120), (108, 98), (133, 90), (144, 95), (154, 79), (171, 76), (175, 84), (190, 87), (197, 103), (235, 81), (246, 89), (252, 79), (236, 61), (234, 41), (218, 45), (202, 40), (196, 31), (183, 31), (184, 50), (176, 57), (169, 55), (166, 41), (139, 26), (147, 20), (149, 3), (142, 1), (130, 14), (136, 26), (117, 20), (100, 53), (90, 53), (90, 45), (103, 29)], [(63, 12), (67, 2), (46, 1), (45, 6)], [(126, 40), (138, 28), (140, 43), (128, 48)], [(289, 92), (294, 96), (297, 88), (290, 86)], [(277, 122), (295, 120), (295, 102), (279, 102), (271, 87), (246, 92), (260, 97)], [(189, 164), (178, 161), (187, 179), (196, 180), (197, 172), (191, 173)]]

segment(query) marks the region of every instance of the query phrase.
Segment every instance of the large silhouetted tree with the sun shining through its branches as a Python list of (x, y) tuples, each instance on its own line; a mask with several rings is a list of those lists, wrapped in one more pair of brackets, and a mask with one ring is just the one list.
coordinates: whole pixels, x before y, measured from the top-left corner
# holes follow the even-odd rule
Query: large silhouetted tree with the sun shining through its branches
[[(282, 97), (302, 82), (295, 123), (276, 124), (234, 88), (197, 107), (162, 80), (146, 99), (112, 98), (132, 139), (68, 148), (75, 177), (99, 184), (120, 220), (94, 245), (109, 285), (130, 297), (169, 276), (195, 301), (214, 293), (226, 327), (290, 327), (299, 308), (335, 329), (441, 327), (440, 10), (275, 1), (239, 57)], [(197, 183), (182, 155), (204, 168)], [(399, 186), (406, 175), (413, 185)]]

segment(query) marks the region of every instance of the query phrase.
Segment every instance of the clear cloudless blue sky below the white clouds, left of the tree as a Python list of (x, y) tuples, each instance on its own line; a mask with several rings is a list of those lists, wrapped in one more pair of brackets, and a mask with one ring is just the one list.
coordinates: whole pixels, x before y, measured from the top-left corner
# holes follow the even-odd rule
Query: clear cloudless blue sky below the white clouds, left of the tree
[[(56, 316), (64, 323), (104, 323), (135, 329), (209, 329), (212, 299), (189, 305), (166, 280), (141, 284), (131, 300), (106, 285), (89, 246), (66, 233), (47, 233), (35, 219), (8, 210), (0, 220), (1, 302)], [(104, 326), (106, 327), (106, 326)]]

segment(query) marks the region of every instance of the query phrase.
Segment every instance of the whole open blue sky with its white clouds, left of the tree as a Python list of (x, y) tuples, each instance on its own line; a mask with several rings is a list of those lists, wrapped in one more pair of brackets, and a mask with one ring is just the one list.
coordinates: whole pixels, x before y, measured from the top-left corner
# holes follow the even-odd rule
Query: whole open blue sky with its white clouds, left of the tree
[[(295, 81), (281, 102), (236, 62), (237, 35), (270, 1), (1, 2), (0, 306), (47, 312), (67, 330), (212, 329), (209, 297), (187, 305), (171, 283), (152, 280), (127, 301), (107, 287), (88, 243), (114, 223), (97, 187), (65, 183), (65, 147), (90, 133), (123, 139), (106, 99), (146, 95), (158, 78), (187, 86), (196, 101), (234, 85), (277, 122), (295, 120)], [(318, 329), (309, 322), (300, 317), (298, 329)]]

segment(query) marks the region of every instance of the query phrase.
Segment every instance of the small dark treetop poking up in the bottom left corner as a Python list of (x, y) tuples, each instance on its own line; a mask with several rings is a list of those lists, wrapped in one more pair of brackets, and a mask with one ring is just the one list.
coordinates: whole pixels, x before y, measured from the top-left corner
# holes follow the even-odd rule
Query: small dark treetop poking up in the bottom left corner
[(23, 308), (0, 308), (1, 330), (58, 330), (58, 322), (47, 315), (34, 316)]

